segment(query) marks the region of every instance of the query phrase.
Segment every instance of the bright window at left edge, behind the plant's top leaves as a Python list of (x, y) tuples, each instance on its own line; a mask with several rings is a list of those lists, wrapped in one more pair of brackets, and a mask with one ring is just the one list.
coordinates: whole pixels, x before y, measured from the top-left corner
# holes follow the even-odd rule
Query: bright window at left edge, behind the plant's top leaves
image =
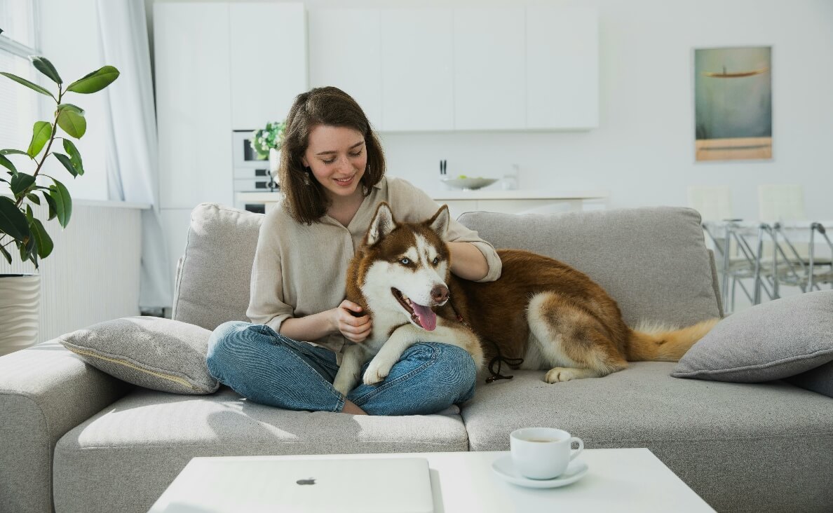
[[(9, 72), (44, 87), (41, 74), (29, 62), (37, 54), (37, 1), (0, 0), (0, 71)], [(47, 87), (48, 88), (48, 87)], [(0, 149), (26, 150), (32, 124), (38, 118), (40, 94), (0, 76)], [(25, 157), (12, 156), (12, 162)], [(0, 185), (6, 185), (0, 182)]]

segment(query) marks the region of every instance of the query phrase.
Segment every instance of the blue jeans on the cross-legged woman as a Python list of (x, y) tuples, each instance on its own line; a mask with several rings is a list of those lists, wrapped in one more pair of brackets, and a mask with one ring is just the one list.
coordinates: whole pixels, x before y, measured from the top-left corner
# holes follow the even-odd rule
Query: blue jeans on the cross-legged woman
[[(407, 349), (377, 385), (347, 397), (332, 387), (336, 353), (282, 336), (266, 325), (229, 321), (208, 343), (208, 371), (241, 396), (287, 410), (342, 411), (346, 399), (369, 415), (426, 415), (468, 401), (476, 369), (466, 350), (436, 342)], [(362, 375), (367, 363), (362, 367)]]

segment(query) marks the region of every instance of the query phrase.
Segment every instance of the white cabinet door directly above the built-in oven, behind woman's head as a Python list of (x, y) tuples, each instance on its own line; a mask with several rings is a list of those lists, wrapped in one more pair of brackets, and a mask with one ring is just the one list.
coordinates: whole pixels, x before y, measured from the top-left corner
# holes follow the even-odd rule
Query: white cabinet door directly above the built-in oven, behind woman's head
[(287, 117), (307, 91), (307, 18), (302, 3), (229, 3), (232, 129)]

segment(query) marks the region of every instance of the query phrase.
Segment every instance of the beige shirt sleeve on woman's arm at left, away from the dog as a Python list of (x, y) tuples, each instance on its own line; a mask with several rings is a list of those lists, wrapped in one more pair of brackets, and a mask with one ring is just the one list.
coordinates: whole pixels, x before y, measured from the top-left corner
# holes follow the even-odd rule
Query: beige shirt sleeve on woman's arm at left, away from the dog
[(270, 215), (261, 225), (246, 316), (255, 324), (266, 324), (280, 331), (282, 322), (292, 317), (292, 306), (283, 297), (282, 252), (276, 223), (276, 217)]

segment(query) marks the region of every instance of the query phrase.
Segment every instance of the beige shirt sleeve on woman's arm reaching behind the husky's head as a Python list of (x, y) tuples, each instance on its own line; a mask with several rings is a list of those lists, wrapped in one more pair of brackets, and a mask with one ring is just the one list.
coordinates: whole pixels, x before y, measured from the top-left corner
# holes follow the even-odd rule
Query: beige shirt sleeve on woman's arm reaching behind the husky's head
[[(433, 216), (440, 204), (429, 197), (426, 192), (402, 179), (388, 179), (388, 198), (393, 209), (393, 216), (408, 222), (423, 221)], [(397, 212), (398, 211), (398, 212)], [(477, 281), (495, 281), (501, 277), (503, 264), (497, 256), (495, 247), (481, 239), (477, 232), (464, 227), (456, 219), (451, 219), (446, 232), (447, 242), (471, 242), (486, 257), (489, 271)]]

